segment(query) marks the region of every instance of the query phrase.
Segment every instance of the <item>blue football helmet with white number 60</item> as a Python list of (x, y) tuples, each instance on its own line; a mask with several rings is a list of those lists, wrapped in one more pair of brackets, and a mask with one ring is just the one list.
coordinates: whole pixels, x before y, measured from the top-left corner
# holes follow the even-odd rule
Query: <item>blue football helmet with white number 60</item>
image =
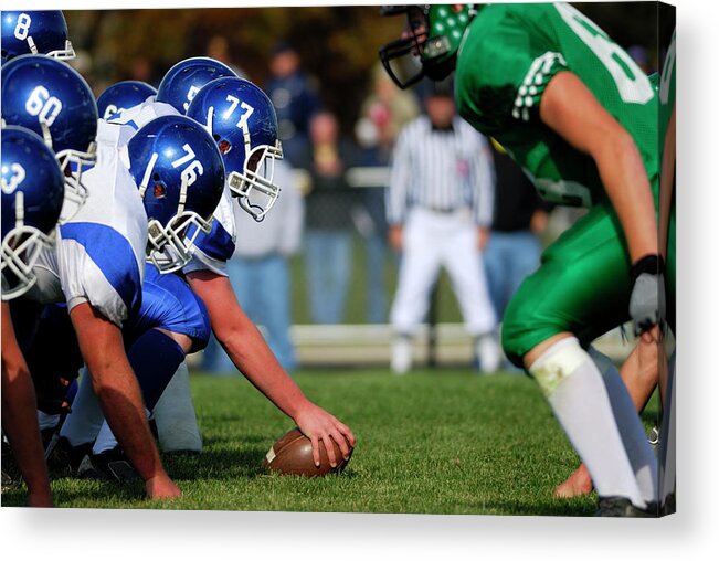
[(36, 133), (55, 151), (65, 176), (66, 221), (87, 198), (83, 170), (95, 165), (95, 97), (75, 70), (42, 55), (9, 61), (2, 66), (0, 82), (6, 124)]

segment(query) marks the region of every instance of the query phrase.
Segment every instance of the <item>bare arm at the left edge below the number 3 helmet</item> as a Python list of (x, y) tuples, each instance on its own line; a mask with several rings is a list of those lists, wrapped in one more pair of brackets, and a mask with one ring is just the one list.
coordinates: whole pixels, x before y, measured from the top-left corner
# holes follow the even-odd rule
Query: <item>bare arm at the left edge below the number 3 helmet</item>
[(35, 391), (10, 317), (2, 303), (2, 430), (28, 485), (28, 505), (52, 507), (47, 466), (38, 426)]

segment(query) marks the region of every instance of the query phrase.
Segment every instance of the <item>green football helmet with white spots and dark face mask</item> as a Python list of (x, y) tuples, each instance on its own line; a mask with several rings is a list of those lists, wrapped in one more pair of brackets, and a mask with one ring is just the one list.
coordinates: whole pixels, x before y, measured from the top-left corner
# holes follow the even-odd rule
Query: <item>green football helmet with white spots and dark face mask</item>
[(406, 14), (402, 38), (380, 49), (380, 60), (401, 88), (422, 77), (444, 80), (454, 70), (456, 54), (476, 4), (383, 6), (382, 15)]

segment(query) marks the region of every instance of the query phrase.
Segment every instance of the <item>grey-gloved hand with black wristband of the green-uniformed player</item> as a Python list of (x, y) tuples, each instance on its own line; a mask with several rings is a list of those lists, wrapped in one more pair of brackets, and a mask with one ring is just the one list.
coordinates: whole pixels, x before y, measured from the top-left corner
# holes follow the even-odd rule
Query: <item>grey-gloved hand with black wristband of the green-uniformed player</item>
[(630, 297), (630, 315), (634, 322), (634, 332), (651, 342), (655, 339), (653, 329), (664, 309), (664, 264), (658, 255), (647, 255), (632, 265), (632, 296)]

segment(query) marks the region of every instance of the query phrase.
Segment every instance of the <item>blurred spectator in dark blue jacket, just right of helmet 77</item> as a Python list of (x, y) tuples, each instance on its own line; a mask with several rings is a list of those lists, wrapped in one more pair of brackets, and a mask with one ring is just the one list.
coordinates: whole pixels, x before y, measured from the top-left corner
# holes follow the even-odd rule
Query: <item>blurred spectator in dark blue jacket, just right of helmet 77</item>
[(269, 71), (272, 77), (265, 92), (277, 112), (285, 158), (297, 166), (297, 158), (307, 144), (309, 119), (319, 109), (317, 88), (302, 72), (299, 54), (287, 42), (275, 45)]

